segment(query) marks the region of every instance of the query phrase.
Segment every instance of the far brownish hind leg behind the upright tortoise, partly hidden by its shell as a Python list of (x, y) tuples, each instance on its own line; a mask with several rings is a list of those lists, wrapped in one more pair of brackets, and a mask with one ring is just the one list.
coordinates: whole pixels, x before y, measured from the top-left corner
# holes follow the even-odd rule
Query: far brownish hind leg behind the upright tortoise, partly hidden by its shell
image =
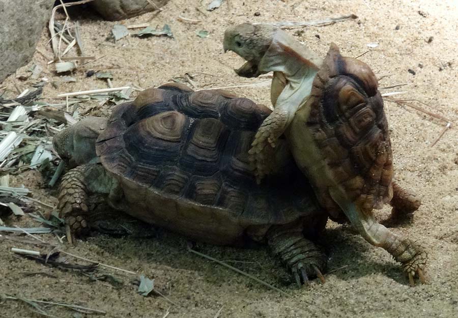
[(396, 182), (393, 185), (393, 198), (390, 205), (393, 207), (389, 219), (384, 220), (386, 226), (399, 225), (408, 222), (412, 219), (413, 213), (418, 210), (421, 205), (420, 198), (400, 187)]

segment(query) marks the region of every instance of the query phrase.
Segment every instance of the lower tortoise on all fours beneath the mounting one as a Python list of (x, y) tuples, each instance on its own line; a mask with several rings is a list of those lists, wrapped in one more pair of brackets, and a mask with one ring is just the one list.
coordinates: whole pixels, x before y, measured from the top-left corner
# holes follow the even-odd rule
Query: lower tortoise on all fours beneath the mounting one
[(117, 105), (108, 120), (82, 119), (53, 138), (70, 166), (59, 193), (67, 239), (90, 228), (89, 197), (116, 210), (217, 245), (267, 243), (296, 283), (320, 277), (326, 256), (313, 241), (328, 214), (279, 141), (257, 185), (248, 161), (270, 109), (224, 91), (165, 84)]

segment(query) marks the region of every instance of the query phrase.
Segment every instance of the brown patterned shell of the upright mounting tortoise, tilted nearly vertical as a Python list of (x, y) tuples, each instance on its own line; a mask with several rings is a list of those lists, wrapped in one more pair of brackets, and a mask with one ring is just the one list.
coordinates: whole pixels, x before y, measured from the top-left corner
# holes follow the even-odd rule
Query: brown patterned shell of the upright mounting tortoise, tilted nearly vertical
[[(374, 73), (365, 63), (342, 57), (331, 45), (308, 103), (307, 125), (333, 178), (363, 211), (380, 209), (393, 195), (393, 163)], [(321, 201), (330, 208), (332, 200), (322, 196)]]

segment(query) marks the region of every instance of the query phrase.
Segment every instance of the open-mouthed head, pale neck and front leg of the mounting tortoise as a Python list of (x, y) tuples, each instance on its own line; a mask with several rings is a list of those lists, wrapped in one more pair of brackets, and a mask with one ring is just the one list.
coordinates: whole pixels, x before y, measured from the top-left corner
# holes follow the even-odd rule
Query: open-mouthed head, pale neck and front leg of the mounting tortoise
[(322, 61), (287, 33), (267, 24), (243, 23), (228, 28), (223, 45), (225, 50), (232, 50), (247, 61), (236, 70), (237, 74), (254, 77), (274, 71), (271, 89), (274, 110), (257, 131), (249, 152), (256, 181), (260, 183), (272, 170), (269, 166), (272, 148), (309, 95)]

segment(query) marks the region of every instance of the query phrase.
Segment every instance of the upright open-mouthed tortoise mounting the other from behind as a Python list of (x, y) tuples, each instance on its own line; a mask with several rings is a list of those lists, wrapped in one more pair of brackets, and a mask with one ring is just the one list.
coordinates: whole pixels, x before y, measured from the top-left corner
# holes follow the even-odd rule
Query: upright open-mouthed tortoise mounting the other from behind
[(270, 158), (277, 143), (286, 139), (331, 218), (350, 221), (370, 244), (386, 249), (402, 263), (411, 284), (416, 275), (424, 282), (424, 248), (392, 233), (374, 217), (373, 209), (386, 203), (393, 206), (393, 214), (403, 214), (417, 210), (420, 201), (393, 181), (388, 123), (370, 68), (341, 56), (335, 44), (321, 60), (267, 24), (228, 28), (223, 46), (247, 61), (236, 70), (239, 75), (274, 72), (274, 111), (257, 130), (249, 150), (257, 181), (272, 173), (275, 164)]

